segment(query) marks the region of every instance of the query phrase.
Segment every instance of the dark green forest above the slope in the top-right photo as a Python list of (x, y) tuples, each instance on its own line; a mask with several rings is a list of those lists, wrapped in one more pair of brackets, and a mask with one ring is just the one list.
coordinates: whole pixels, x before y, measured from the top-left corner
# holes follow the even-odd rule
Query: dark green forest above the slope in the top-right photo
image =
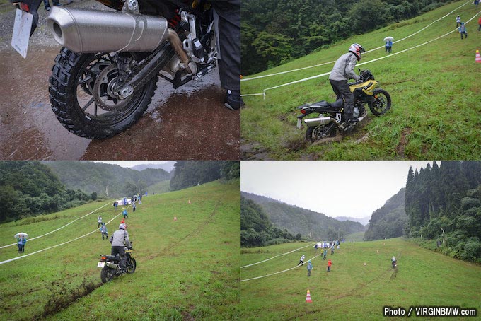
[(270, 69), (352, 35), (414, 18), (448, 2), (451, 1), (243, 0), (242, 74)]

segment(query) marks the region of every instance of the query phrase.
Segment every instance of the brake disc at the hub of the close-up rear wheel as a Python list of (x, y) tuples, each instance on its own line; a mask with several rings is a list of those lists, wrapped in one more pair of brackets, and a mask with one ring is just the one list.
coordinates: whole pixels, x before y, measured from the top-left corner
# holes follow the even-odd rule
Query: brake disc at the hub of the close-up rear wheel
[(116, 64), (110, 64), (97, 76), (93, 86), (93, 98), (95, 103), (103, 110), (109, 112), (124, 109), (132, 99), (132, 95), (120, 99), (113, 91), (117, 84), (119, 70)]

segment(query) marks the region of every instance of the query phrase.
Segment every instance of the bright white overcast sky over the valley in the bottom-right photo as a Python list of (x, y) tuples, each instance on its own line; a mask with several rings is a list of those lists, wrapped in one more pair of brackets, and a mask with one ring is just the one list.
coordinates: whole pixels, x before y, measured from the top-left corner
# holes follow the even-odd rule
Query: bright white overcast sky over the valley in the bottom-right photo
[[(432, 161), (242, 161), (240, 189), (327, 216), (371, 216)], [(439, 165), (439, 162), (438, 162)]]

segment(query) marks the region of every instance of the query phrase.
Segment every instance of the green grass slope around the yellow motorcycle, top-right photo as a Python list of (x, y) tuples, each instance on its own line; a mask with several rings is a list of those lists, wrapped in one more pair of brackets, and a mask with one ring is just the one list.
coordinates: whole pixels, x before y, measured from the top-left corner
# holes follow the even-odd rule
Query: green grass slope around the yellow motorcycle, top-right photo
[[(335, 61), (347, 52), (352, 42), (366, 50), (383, 46), (390, 35), (400, 40), (458, 8), (466, 1), (456, 1), (434, 11), (358, 35), (328, 49), (320, 50), (262, 74), (313, 66)], [(370, 69), (381, 88), (393, 99), (386, 115), (369, 116), (354, 132), (342, 138), (318, 144), (304, 140), (306, 127), (296, 128), (296, 106), (318, 100), (335, 100), (328, 76), (246, 96), (241, 113), (243, 158), (274, 159), (477, 159), (481, 153), (478, 128), (481, 125), (481, 64), (475, 63), (475, 50), (481, 49), (477, 18), (481, 12), (473, 4), (463, 6), (429, 28), (393, 44), (386, 59), (359, 66)], [(449, 33), (456, 27), (457, 15), (468, 21), (467, 39), (458, 31), (421, 47), (415, 47)], [(360, 63), (385, 57), (384, 48), (364, 54)], [(244, 94), (262, 93), (265, 88), (329, 72), (333, 64), (304, 69), (289, 74), (259, 78), (241, 83)], [(357, 70), (357, 69), (356, 69)], [(257, 76), (257, 75), (256, 75)]]

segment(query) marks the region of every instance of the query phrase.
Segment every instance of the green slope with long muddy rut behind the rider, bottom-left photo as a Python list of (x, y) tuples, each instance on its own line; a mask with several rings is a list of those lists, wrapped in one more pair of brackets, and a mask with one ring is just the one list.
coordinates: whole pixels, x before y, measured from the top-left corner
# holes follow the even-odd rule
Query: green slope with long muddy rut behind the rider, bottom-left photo
[[(191, 202), (189, 204), (188, 202)], [(238, 183), (211, 182), (178, 192), (149, 195), (132, 213), (137, 271), (101, 285), (99, 255), (110, 253), (100, 232), (14, 262), (0, 264), (0, 320), (232, 320), (238, 303), (240, 193)], [(0, 245), (13, 234), (31, 237), (53, 230), (102, 203), (88, 204), (38, 223), (2, 224)], [(111, 204), (100, 210), (115, 216)], [(57, 218), (55, 218), (57, 216)], [(95, 212), (44, 238), (32, 240), (25, 254), (84, 235), (97, 227)], [(173, 221), (177, 216), (178, 221)], [(113, 233), (120, 216), (108, 225)], [(0, 262), (17, 256), (0, 250)]]

